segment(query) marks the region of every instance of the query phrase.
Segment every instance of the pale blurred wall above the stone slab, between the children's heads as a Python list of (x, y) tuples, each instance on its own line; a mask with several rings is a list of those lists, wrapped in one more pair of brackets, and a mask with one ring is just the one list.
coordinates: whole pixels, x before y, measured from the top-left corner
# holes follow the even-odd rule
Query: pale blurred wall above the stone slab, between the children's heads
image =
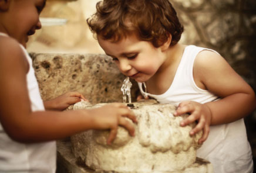
[[(30, 37), (28, 51), (103, 54), (86, 23), (86, 18), (95, 11), (97, 1), (47, 1), (40, 16), (42, 29)], [(60, 23), (59, 20), (65, 22)]]

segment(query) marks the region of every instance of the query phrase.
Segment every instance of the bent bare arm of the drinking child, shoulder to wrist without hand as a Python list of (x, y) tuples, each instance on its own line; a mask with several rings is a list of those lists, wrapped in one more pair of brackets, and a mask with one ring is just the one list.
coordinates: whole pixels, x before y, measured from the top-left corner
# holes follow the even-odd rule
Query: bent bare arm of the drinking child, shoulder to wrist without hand
[(206, 103), (211, 111), (211, 125), (234, 122), (255, 109), (253, 89), (220, 55), (202, 51), (196, 58), (194, 74), (198, 83), (221, 98)]

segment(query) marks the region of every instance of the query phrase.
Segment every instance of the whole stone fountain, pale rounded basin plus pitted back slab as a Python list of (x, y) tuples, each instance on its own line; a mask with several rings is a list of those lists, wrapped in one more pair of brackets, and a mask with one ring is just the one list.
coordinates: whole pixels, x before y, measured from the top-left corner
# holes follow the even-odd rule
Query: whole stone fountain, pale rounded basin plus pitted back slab
[[(79, 91), (89, 99), (69, 109), (92, 109), (108, 102), (123, 102), (124, 76), (109, 57), (95, 54), (31, 54), (43, 99)], [(131, 92), (135, 100), (137, 86)], [(123, 90), (124, 91), (124, 90)], [(129, 98), (129, 97), (128, 97)], [(129, 99), (130, 100), (130, 99)], [(195, 124), (181, 127), (188, 115), (174, 117), (175, 106), (154, 100), (129, 104), (137, 117), (136, 136), (119, 127), (112, 145), (108, 130), (88, 130), (58, 141), (57, 172), (213, 172), (210, 162), (196, 157)]]

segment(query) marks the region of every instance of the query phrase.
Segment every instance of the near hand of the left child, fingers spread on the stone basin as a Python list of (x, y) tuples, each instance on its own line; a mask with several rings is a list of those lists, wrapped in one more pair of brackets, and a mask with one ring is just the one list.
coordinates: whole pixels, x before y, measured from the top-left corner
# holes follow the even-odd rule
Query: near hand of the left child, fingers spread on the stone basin
[(131, 136), (134, 136), (133, 124), (126, 117), (137, 122), (136, 116), (123, 103), (112, 103), (89, 111), (90, 115), (93, 116), (93, 129), (110, 129), (107, 144), (111, 144), (116, 137), (118, 126), (123, 126)]

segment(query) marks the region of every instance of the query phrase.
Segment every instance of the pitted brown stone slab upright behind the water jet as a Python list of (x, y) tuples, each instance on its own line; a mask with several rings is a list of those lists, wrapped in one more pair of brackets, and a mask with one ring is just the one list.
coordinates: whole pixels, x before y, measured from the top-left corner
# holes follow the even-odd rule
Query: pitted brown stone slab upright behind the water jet
[[(31, 54), (43, 100), (68, 91), (82, 93), (91, 103), (123, 102), (122, 75), (111, 58), (102, 54)], [(138, 91), (132, 86), (132, 99)]]

